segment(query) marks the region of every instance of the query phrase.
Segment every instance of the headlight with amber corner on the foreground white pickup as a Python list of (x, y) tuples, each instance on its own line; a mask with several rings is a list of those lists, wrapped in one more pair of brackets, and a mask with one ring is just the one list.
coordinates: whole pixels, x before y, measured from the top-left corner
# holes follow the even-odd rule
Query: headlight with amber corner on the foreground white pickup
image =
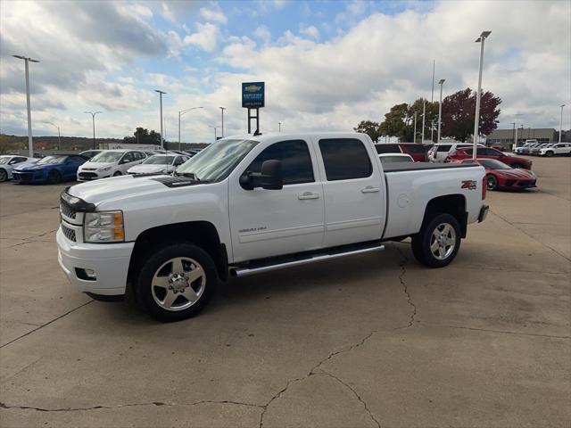
[(123, 212), (86, 212), (83, 220), (83, 238), (86, 243), (125, 242)]

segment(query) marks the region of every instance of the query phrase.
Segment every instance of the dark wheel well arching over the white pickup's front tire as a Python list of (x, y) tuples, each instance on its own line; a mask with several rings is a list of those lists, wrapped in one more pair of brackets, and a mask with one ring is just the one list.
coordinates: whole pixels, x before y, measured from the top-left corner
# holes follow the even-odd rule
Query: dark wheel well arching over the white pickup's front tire
[(214, 260), (219, 278), (228, 278), (228, 252), (220, 242), (219, 233), (209, 221), (187, 221), (146, 229), (137, 236), (128, 266), (128, 283), (137, 276), (137, 269), (145, 254), (165, 243), (194, 243), (206, 251)]

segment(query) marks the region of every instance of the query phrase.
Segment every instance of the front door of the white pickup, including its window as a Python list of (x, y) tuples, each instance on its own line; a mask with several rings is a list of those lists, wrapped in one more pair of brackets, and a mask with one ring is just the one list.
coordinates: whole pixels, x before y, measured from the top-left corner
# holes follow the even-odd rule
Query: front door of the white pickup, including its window
[[(318, 249), (323, 241), (324, 202), (312, 146), (295, 139), (269, 144), (257, 152), (229, 180), (234, 261)], [(261, 172), (261, 164), (269, 160), (282, 162), (284, 187), (245, 190), (239, 178), (248, 171)]]

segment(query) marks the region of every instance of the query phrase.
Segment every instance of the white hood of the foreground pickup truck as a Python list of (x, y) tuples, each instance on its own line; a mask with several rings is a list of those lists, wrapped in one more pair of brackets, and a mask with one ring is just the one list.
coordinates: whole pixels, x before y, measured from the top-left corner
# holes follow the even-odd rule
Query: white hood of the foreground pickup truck
[(73, 185), (68, 189), (68, 193), (85, 202), (98, 205), (102, 202), (119, 201), (133, 196), (167, 193), (171, 191), (170, 188), (198, 184), (186, 177), (120, 176)]

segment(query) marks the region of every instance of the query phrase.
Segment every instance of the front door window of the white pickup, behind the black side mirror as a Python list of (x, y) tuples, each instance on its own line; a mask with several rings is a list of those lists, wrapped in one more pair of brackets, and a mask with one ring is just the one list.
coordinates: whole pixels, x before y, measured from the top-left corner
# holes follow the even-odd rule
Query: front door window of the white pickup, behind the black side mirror
[(261, 172), (264, 161), (282, 162), (284, 185), (299, 185), (315, 181), (310, 151), (303, 140), (282, 141), (264, 149), (250, 164), (247, 171)]

